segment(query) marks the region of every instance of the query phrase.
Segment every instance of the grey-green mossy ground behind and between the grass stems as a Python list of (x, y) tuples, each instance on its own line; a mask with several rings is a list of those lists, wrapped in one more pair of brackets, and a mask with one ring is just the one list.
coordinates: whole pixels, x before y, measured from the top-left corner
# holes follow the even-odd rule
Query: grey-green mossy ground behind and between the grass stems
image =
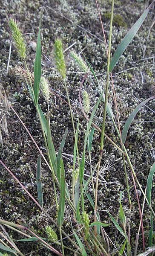
[[(107, 17), (111, 12), (111, 3), (109, 1), (100, 1), (100, 11), (102, 17)], [(79, 106), (78, 93), (80, 87), (80, 81), (83, 78), (83, 74), (80, 73), (80, 69), (77, 64), (72, 60), (70, 56), (71, 50), (76, 52), (82, 52), (89, 63), (91, 63), (95, 73), (98, 74), (98, 80), (100, 84), (105, 84), (106, 81), (106, 49), (103, 42), (101, 28), (99, 26), (98, 12), (95, 2), (93, 1), (12, 1), (10, 3), (3, 1), (2, 8), (0, 10), (0, 29), (1, 29), (1, 41), (0, 41), (0, 83), (3, 86), (7, 99), (13, 104), (14, 109), (20, 115), (20, 118), (25, 123), (26, 127), (31, 132), (34, 139), (37, 141), (40, 148), (46, 151), (43, 136), (41, 133), (39, 119), (34, 108), (32, 99), (29, 96), (26, 84), (23, 80), (19, 81), (19, 78), (14, 74), (12, 68), (16, 65), (24, 65), (22, 59), (17, 56), (14, 44), (11, 46), (11, 59), (9, 62), (9, 70), (7, 70), (7, 61), (9, 56), (9, 47), (11, 44), (11, 37), (8, 29), (8, 15), (19, 20), (19, 23), (24, 27), (24, 37), (27, 42), (27, 62), (29, 68), (33, 70), (35, 49), (37, 41), (38, 21), (40, 9), (45, 8), (42, 29), (41, 29), (41, 43), (42, 43), (42, 74), (48, 77), (48, 81), (51, 91), (51, 98), (49, 100), (49, 111), (51, 119), (52, 137), (55, 145), (55, 150), (58, 151), (59, 145), (62, 141), (62, 136), (68, 127), (68, 135), (66, 138), (65, 147), (63, 150), (63, 162), (66, 172), (66, 183), (71, 188), (72, 179), (72, 152), (74, 148), (74, 132), (72, 128), (72, 121), (69, 116), (69, 106), (63, 100), (66, 95), (63, 82), (55, 69), (53, 46), (56, 38), (61, 38), (63, 41), (63, 50), (66, 56), (66, 86), (69, 90), (69, 97), (72, 100), (71, 104), (76, 109), (73, 110), (73, 117), (75, 123), (78, 123), (78, 113), (81, 113)], [(118, 26), (118, 23), (114, 23), (112, 30), (112, 48), (111, 53), (115, 52), (118, 44), (121, 42), (126, 32), (133, 25), (133, 23), (142, 14), (145, 8), (143, 1), (127, 2), (116, 1), (115, 13), (123, 17), (125, 20), (125, 26)], [(114, 16), (116, 19), (116, 15)], [(104, 19), (103, 19), (104, 20)], [(129, 113), (135, 109), (135, 107), (149, 96), (155, 95), (155, 69), (154, 69), (154, 52), (155, 52), (155, 38), (154, 27), (150, 30), (152, 25), (153, 12), (151, 11), (147, 19), (144, 21), (144, 25), (139, 30), (138, 34), (130, 43), (129, 47), (124, 52), (123, 56), (119, 60), (118, 65), (113, 70), (113, 79), (115, 84), (115, 92), (118, 101), (119, 118), (121, 120), (121, 128), (123, 122), (126, 121)], [(108, 39), (109, 33), (109, 20), (104, 21), (104, 29), (106, 37)], [(69, 49), (68, 49), (69, 48)], [(2, 94), (4, 90), (2, 88)], [(55, 90), (55, 91), (53, 91)], [(84, 90), (89, 94), (90, 109), (95, 105), (98, 99), (98, 91), (92, 80), (88, 80), (84, 83)], [(61, 93), (61, 94), (60, 94)], [(63, 99), (63, 100), (62, 100)], [(115, 106), (113, 102), (113, 93), (111, 83), (109, 84), (109, 103), (115, 113)], [(150, 101), (147, 106), (138, 112), (135, 121), (130, 127), (130, 132), (126, 140), (126, 148), (129, 149), (129, 156), (132, 164), (135, 168), (136, 175), (143, 189), (145, 190), (147, 177), (150, 167), (152, 166), (155, 148), (155, 123), (154, 123), (154, 100)], [(44, 113), (47, 111), (47, 105), (43, 96), (39, 95), (39, 103)], [(100, 104), (97, 112), (95, 113), (95, 122), (100, 121), (102, 105)], [(6, 111), (6, 106), (1, 104), (1, 115)], [(37, 197), (36, 188), (36, 167), (38, 151), (32, 143), (29, 135), (26, 133), (23, 126), (17, 120), (17, 117), (10, 110), (6, 114), (7, 126), (9, 135), (6, 136), (2, 127), (2, 139), (3, 148), (0, 147), (1, 160), (7, 164), (12, 172), (23, 182), (24, 186)], [(106, 118), (105, 131), (106, 134), (112, 138), (115, 143), (119, 143), (119, 138), (115, 131), (114, 125), (109, 123), (110, 119)], [(1, 125), (2, 126), (2, 125)], [(84, 135), (86, 132), (86, 120), (80, 115), (80, 126), (78, 136), (78, 148), (80, 157), (82, 156)], [(92, 141), (92, 166), (98, 161), (98, 155), (100, 154), (100, 134), (95, 131)], [(111, 220), (108, 212), (110, 211), (115, 220), (119, 222), (119, 207), (120, 207), (120, 192), (126, 189), (125, 177), (123, 172), (123, 161), (121, 159), (121, 153), (114, 148), (107, 140), (103, 149), (103, 155), (101, 160), (99, 184), (98, 184), (98, 210), (100, 212), (101, 221), (108, 224)], [(89, 169), (89, 156), (86, 156), (85, 175), (90, 175)], [(41, 166), (41, 180), (43, 184), (44, 205), (48, 209), (48, 213), (52, 218), (57, 218), (57, 210), (55, 205), (54, 192), (52, 188), (52, 177), (44, 163)], [(16, 221), (17, 219), (26, 221), (26, 223), (33, 227), (33, 229), (40, 236), (46, 236), (46, 226), (50, 225), (49, 219), (40, 212), (40, 210), (33, 204), (26, 193), (21, 189), (18, 184), (11, 178), (5, 169), (0, 166), (0, 218), (7, 219), (8, 221)], [(132, 177), (129, 168), (127, 169), (128, 181), (130, 186), (130, 193), (132, 195), (132, 209), (131, 212), (128, 209), (127, 193), (124, 192), (122, 196), (123, 210), (126, 215), (126, 223), (131, 227), (131, 245), (135, 244), (135, 233), (137, 233), (139, 226), (138, 205), (136, 201), (135, 190), (132, 183)], [(87, 176), (85, 176), (87, 177)], [(88, 186), (90, 194), (93, 194), (92, 183)], [(154, 182), (152, 184), (152, 198), (154, 195)], [(140, 193), (140, 192), (139, 192)], [(89, 219), (93, 221), (92, 207), (87, 201), (86, 195), (84, 195), (84, 202), (86, 205), (86, 212), (89, 213)], [(141, 207), (143, 204), (143, 196), (140, 195)], [(152, 207), (154, 207), (154, 200), (152, 200)], [(66, 214), (64, 215), (63, 228), (66, 233), (70, 232), (70, 209), (66, 206)], [(148, 207), (144, 207), (144, 230), (149, 229)], [(54, 228), (54, 227), (53, 227)], [(120, 233), (114, 225), (105, 228), (106, 233), (110, 237), (113, 243), (116, 241), (123, 241)], [(17, 238), (17, 234), (11, 234), (14, 239)], [(58, 235), (58, 234), (57, 234)], [(19, 237), (18, 237), (19, 239)], [(146, 236), (147, 244), (148, 236)], [(121, 242), (120, 242), (121, 244)], [(19, 243), (19, 248), (24, 251), (24, 244)], [(65, 244), (68, 245), (67, 242)], [(118, 242), (115, 243), (115, 247), (118, 247)], [(116, 248), (110, 243), (111, 254), (116, 255)], [(24, 253), (30, 253), (32, 250), (37, 250), (40, 245), (30, 244), (29, 249)], [(114, 248), (114, 249), (112, 249)], [(138, 252), (141, 252), (142, 238), (140, 236)], [(113, 250), (113, 251), (112, 251)], [(119, 249), (118, 249), (119, 250)], [(66, 249), (65, 255), (74, 255), (72, 252)], [(52, 255), (47, 249), (39, 250), (33, 253), (34, 255)], [(33, 255), (32, 254), (32, 255)]]

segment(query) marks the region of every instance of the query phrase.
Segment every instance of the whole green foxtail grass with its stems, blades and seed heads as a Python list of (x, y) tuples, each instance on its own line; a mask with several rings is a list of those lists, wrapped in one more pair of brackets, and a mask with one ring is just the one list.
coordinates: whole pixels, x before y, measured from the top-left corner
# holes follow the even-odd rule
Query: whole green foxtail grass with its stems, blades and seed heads
[[(106, 82), (105, 84), (100, 84), (93, 67), (86, 58), (78, 55), (75, 51), (71, 52), (71, 58), (78, 64), (81, 72), (83, 72), (83, 79), (80, 82), (80, 90), (79, 90), (79, 101), (81, 106), (81, 111), (83, 112), (83, 116), (86, 119), (86, 128), (85, 134), (83, 138), (83, 143), (78, 143), (79, 138), (79, 127), (82, 125), (80, 123), (80, 116), (78, 116), (78, 122), (74, 119), (74, 113), (72, 104), (69, 97), (69, 87), (67, 84), (67, 76), (66, 76), (66, 60), (63, 52), (63, 43), (60, 38), (55, 39), (54, 44), (54, 58), (55, 58), (55, 68), (57, 73), (60, 76), (62, 81), (62, 86), (66, 91), (66, 97), (68, 99), (69, 111), (72, 121), (72, 129), (73, 129), (73, 140), (74, 140), (74, 148), (73, 148), (73, 165), (72, 165), (72, 181), (70, 186), (66, 181), (67, 170), (65, 166), (65, 161), (63, 159), (63, 148), (66, 145), (66, 138), (68, 135), (68, 129), (66, 129), (64, 135), (62, 136), (62, 140), (56, 154), (55, 145), (53, 143), (52, 138), (52, 125), (51, 125), (51, 113), (49, 107), (49, 101), (51, 97), (50, 81), (48, 77), (42, 75), (42, 67), (41, 67), (41, 20), (43, 17), (43, 11), (40, 12), (40, 21), (39, 21), (39, 29), (37, 36), (37, 45), (36, 45), (36, 54), (34, 61), (34, 70), (30, 71), (29, 65), (27, 63), (27, 47), (26, 41), (24, 39), (22, 30), (18, 26), (18, 23), (10, 17), (9, 19), (9, 27), (11, 30), (11, 35), (14, 40), (14, 44), (17, 48), (17, 52), (20, 58), (23, 59), (23, 63), (25, 67), (16, 67), (14, 72), (23, 79), (26, 83), (27, 88), (29, 90), (29, 95), (34, 103), (35, 110), (37, 112), (40, 127), (43, 136), (43, 147), (46, 149), (46, 153), (40, 150), (40, 147), (37, 145), (36, 141), (32, 137), (26, 125), (24, 125), (24, 120), (18, 116), (18, 113), (14, 110), (14, 108), (10, 104), (10, 108), (14, 111), (14, 114), (17, 116), (19, 122), (24, 126), (26, 132), (31, 137), (33, 143), (35, 144), (39, 156), (37, 156), (37, 169), (36, 169), (36, 187), (37, 187), (37, 200), (34, 198), (32, 193), (26, 189), (23, 183), (16, 177), (16, 175), (11, 172), (11, 170), (6, 166), (6, 164), (0, 160), (0, 164), (6, 169), (7, 172), (12, 176), (14, 180), (21, 186), (21, 188), (29, 195), (29, 200), (32, 199), (34, 204), (40, 209), (40, 211), (46, 216), (49, 223), (44, 227), (44, 231), (46, 233), (46, 237), (40, 236), (33, 227), (29, 227), (24, 221), (17, 221), (17, 223), (13, 223), (11, 221), (0, 219), (0, 256), (2, 255), (26, 255), (25, 252), (21, 252), (17, 247), (16, 242), (26, 242), (37, 241), (40, 246), (49, 250), (50, 254), (65, 256), (66, 252), (69, 252), (69, 255), (97, 255), (97, 256), (110, 256), (110, 255), (127, 255), (131, 256), (137, 251), (138, 247), (138, 239), (140, 239), (139, 233), (140, 228), (138, 230), (138, 236), (135, 237), (136, 244), (135, 248), (131, 243), (130, 236), (130, 224), (127, 224), (126, 221), (126, 213), (122, 206), (122, 193), (120, 192), (120, 200), (119, 200), (119, 212), (118, 219), (114, 218), (110, 212), (110, 209), (106, 209), (107, 215), (109, 215), (109, 221), (102, 220), (100, 212), (98, 211), (98, 186), (99, 186), (99, 175), (101, 171), (101, 162), (103, 160), (103, 151), (104, 151), (104, 141), (105, 139), (111, 143), (112, 147), (116, 147), (119, 153), (122, 155), (121, 160), (123, 161), (124, 167), (124, 175), (126, 179), (126, 191), (128, 194), (128, 207), (129, 213), (132, 212), (132, 195), (130, 193), (130, 187), (128, 184), (128, 176), (127, 169), (131, 170), (133, 185), (135, 188), (135, 193), (138, 201), (138, 209), (134, 209), (135, 211), (139, 210), (140, 216), (140, 226), (141, 226), (141, 236), (142, 236), (142, 248), (144, 255), (147, 255), (146, 250), (146, 241), (145, 241), (145, 231), (148, 231), (148, 246), (151, 247), (149, 249), (149, 253), (153, 253), (154, 251), (154, 231), (153, 231), (153, 220), (155, 218), (155, 212), (152, 208), (151, 204), (151, 190), (152, 190), (152, 177), (155, 172), (155, 163), (152, 165), (149, 177), (147, 180), (146, 191), (144, 192), (143, 186), (140, 184), (135, 170), (132, 165), (132, 160), (130, 159), (129, 150), (126, 149), (126, 140), (127, 134), (129, 132), (129, 128), (131, 123), (133, 122), (135, 115), (141, 108), (150, 100), (154, 99), (155, 96), (150, 96), (148, 99), (141, 102), (132, 113), (129, 114), (128, 119), (123, 125), (123, 130), (121, 131), (119, 116), (118, 116), (118, 105), (117, 98), (115, 96), (115, 87), (112, 78), (112, 70), (115, 65), (118, 63), (121, 55), (128, 47), (132, 38), (138, 32), (138, 29), (143, 24), (145, 18), (147, 17), (149, 10), (152, 8), (154, 1), (151, 5), (145, 10), (145, 12), (141, 15), (141, 17), (135, 22), (126, 36), (123, 38), (118, 48), (115, 50), (111, 58), (111, 45), (112, 45), (112, 22), (113, 22), (113, 13), (115, 11), (115, 1), (112, 0), (111, 3), (111, 20), (110, 20), (110, 29), (109, 29), (109, 45), (107, 47), (106, 37), (104, 33), (104, 28), (102, 25), (100, 9), (98, 6), (98, 2), (96, 0), (96, 5), (98, 9), (98, 14), (100, 17), (100, 22), (103, 31), (103, 37), (106, 45), (106, 54), (107, 54), (107, 70), (106, 70)], [(113, 94), (114, 94), (114, 102), (116, 108), (116, 118), (117, 123), (115, 122), (114, 111), (112, 110), (112, 106), (108, 102), (108, 93), (109, 93), (109, 83), (110, 78), (112, 80), (113, 86)], [(83, 102), (81, 100), (81, 90), (85, 81), (91, 81), (98, 90), (99, 96), (96, 102), (94, 102), (94, 107), (91, 109), (91, 101), (90, 95), (84, 90), (82, 93)], [(43, 113), (42, 108), (40, 107), (40, 94), (43, 94), (45, 99), (47, 110), (46, 113)], [(1, 96), (3, 101), (5, 101), (5, 96)], [(96, 111), (99, 106), (103, 106), (103, 113), (101, 112), (101, 116), (103, 117), (101, 123), (93, 123), (93, 119)], [(112, 121), (118, 140), (114, 140), (114, 137), (110, 139), (106, 135), (106, 116), (109, 116), (109, 119)], [(5, 116), (4, 116), (5, 120)], [(0, 123), (2, 122), (2, 119)], [(5, 130), (7, 131), (6, 122)], [(101, 129), (100, 129), (101, 127)], [(92, 166), (92, 143), (94, 137), (95, 129), (100, 133), (100, 150), (98, 156), (95, 159), (95, 166)], [(6, 132), (8, 134), (8, 131)], [(1, 130), (0, 130), (1, 136)], [(118, 143), (119, 141), (119, 143)], [(2, 137), (0, 137), (0, 143), (3, 146)], [(5, 150), (5, 149), (4, 149)], [(82, 156), (82, 157), (81, 157)], [(90, 172), (89, 177), (85, 180), (85, 165), (86, 160), (89, 159)], [(43, 184), (41, 181), (41, 163), (44, 161), (46, 163), (46, 168), (49, 169), (50, 176), (52, 177), (52, 190), (55, 198), (54, 207), (56, 211), (55, 217), (52, 217), (48, 210), (46, 209), (46, 204), (44, 200), (43, 194)], [(92, 194), (89, 192), (88, 186), (91, 183)], [(46, 186), (46, 185), (45, 185)], [(150, 209), (150, 229), (144, 230), (143, 227), (143, 208), (141, 209), (140, 199), (138, 197), (138, 189), (141, 190), (143, 195), (144, 204), (147, 205)], [(87, 205), (90, 204), (92, 212), (89, 211), (89, 207)], [(109, 202), (109, 206), (110, 206)], [(67, 212), (66, 209), (69, 209), (69, 220), (70, 220), (70, 230), (71, 233), (68, 234), (65, 231), (64, 218)], [(114, 225), (117, 229), (119, 236), (121, 237), (120, 241), (117, 242), (117, 253), (112, 253), (111, 251), (111, 238), (106, 234), (105, 229)], [(140, 227), (139, 226), (139, 227)], [(7, 231), (6, 231), (7, 229)], [(20, 239), (17, 241), (14, 240), (10, 235), (8, 230), (14, 230), (20, 235)], [(24, 237), (21, 239), (21, 236)], [(66, 239), (68, 240), (66, 242)], [(110, 244), (110, 245), (109, 245)], [(40, 247), (40, 248), (42, 248)], [(146, 252), (145, 252), (146, 250)], [(33, 251), (31, 255), (40, 255), (34, 254)], [(135, 255), (135, 254), (134, 254)], [(143, 255), (143, 254), (142, 254)], [(153, 255), (153, 254), (152, 254)]]

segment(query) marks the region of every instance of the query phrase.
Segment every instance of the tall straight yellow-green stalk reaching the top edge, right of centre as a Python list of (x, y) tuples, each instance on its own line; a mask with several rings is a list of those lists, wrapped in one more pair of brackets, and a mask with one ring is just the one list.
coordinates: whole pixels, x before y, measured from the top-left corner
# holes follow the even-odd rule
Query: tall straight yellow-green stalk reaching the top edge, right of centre
[[(97, 0), (96, 0), (97, 3)], [(103, 141), (104, 141), (104, 130), (105, 130), (105, 121), (106, 121), (106, 105), (108, 102), (108, 88), (109, 88), (109, 65), (110, 65), (110, 52), (111, 52), (111, 40), (112, 40), (112, 21), (113, 21), (113, 12), (114, 12), (114, 0), (112, 0), (112, 11), (110, 19), (110, 31), (109, 31), (109, 52), (108, 52), (108, 61), (107, 61), (107, 73), (106, 73), (106, 92), (105, 92), (105, 101), (104, 101), (104, 111), (103, 111), (103, 122), (102, 122), (102, 132), (100, 139), (100, 160), (103, 154)], [(98, 177), (100, 171), (100, 160), (98, 164), (98, 172), (96, 177), (96, 187), (95, 187), (95, 213), (97, 211), (97, 195), (98, 195)], [(94, 215), (94, 221), (96, 221), (96, 214)], [(94, 227), (95, 236), (97, 235), (96, 226)]]

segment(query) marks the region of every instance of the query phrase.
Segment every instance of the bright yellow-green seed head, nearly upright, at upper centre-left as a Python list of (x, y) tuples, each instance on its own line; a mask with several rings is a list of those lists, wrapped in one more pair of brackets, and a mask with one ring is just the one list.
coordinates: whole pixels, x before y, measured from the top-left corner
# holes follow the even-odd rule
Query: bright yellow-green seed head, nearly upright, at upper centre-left
[(62, 76), (62, 78), (65, 79), (66, 78), (66, 64), (65, 64), (64, 54), (63, 54), (62, 41), (60, 39), (55, 39), (54, 56), (55, 56), (57, 70), (60, 73), (60, 75)]

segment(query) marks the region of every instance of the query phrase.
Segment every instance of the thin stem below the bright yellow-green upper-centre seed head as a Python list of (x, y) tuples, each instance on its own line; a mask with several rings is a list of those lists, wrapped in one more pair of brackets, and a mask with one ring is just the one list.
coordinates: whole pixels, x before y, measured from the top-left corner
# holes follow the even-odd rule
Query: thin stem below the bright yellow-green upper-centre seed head
[[(69, 102), (69, 109), (70, 109), (70, 113), (71, 113), (71, 119), (72, 119), (72, 125), (73, 125), (73, 131), (74, 131), (74, 137), (75, 137), (75, 144), (76, 144), (76, 150), (77, 150), (77, 156), (78, 156), (78, 166), (79, 166), (79, 172), (80, 172), (80, 160), (79, 160), (79, 153), (78, 153), (78, 143), (77, 143), (77, 139), (76, 139), (76, 132), (75, 132), (75, 125), (74, 125), (74, 119), (73, 119), (73, 114), (72, 114), (72, 107), (71, 107), (71, 103), (70, 103), (70, 99), (69, 99), (69, 93), (68, 93), (68, 89), (66, 86), (66, 80), (63, 80), (64, 85), (65, 85), (65, 90), (66, 90), (66, 94), (67, 94), (67, 99)], [(81, 206), (82, 206), (82, 211), (84, 212), (84, 196), (83, 196), (83, 184), (80, 183), (80, 190), (81, 190)]]

